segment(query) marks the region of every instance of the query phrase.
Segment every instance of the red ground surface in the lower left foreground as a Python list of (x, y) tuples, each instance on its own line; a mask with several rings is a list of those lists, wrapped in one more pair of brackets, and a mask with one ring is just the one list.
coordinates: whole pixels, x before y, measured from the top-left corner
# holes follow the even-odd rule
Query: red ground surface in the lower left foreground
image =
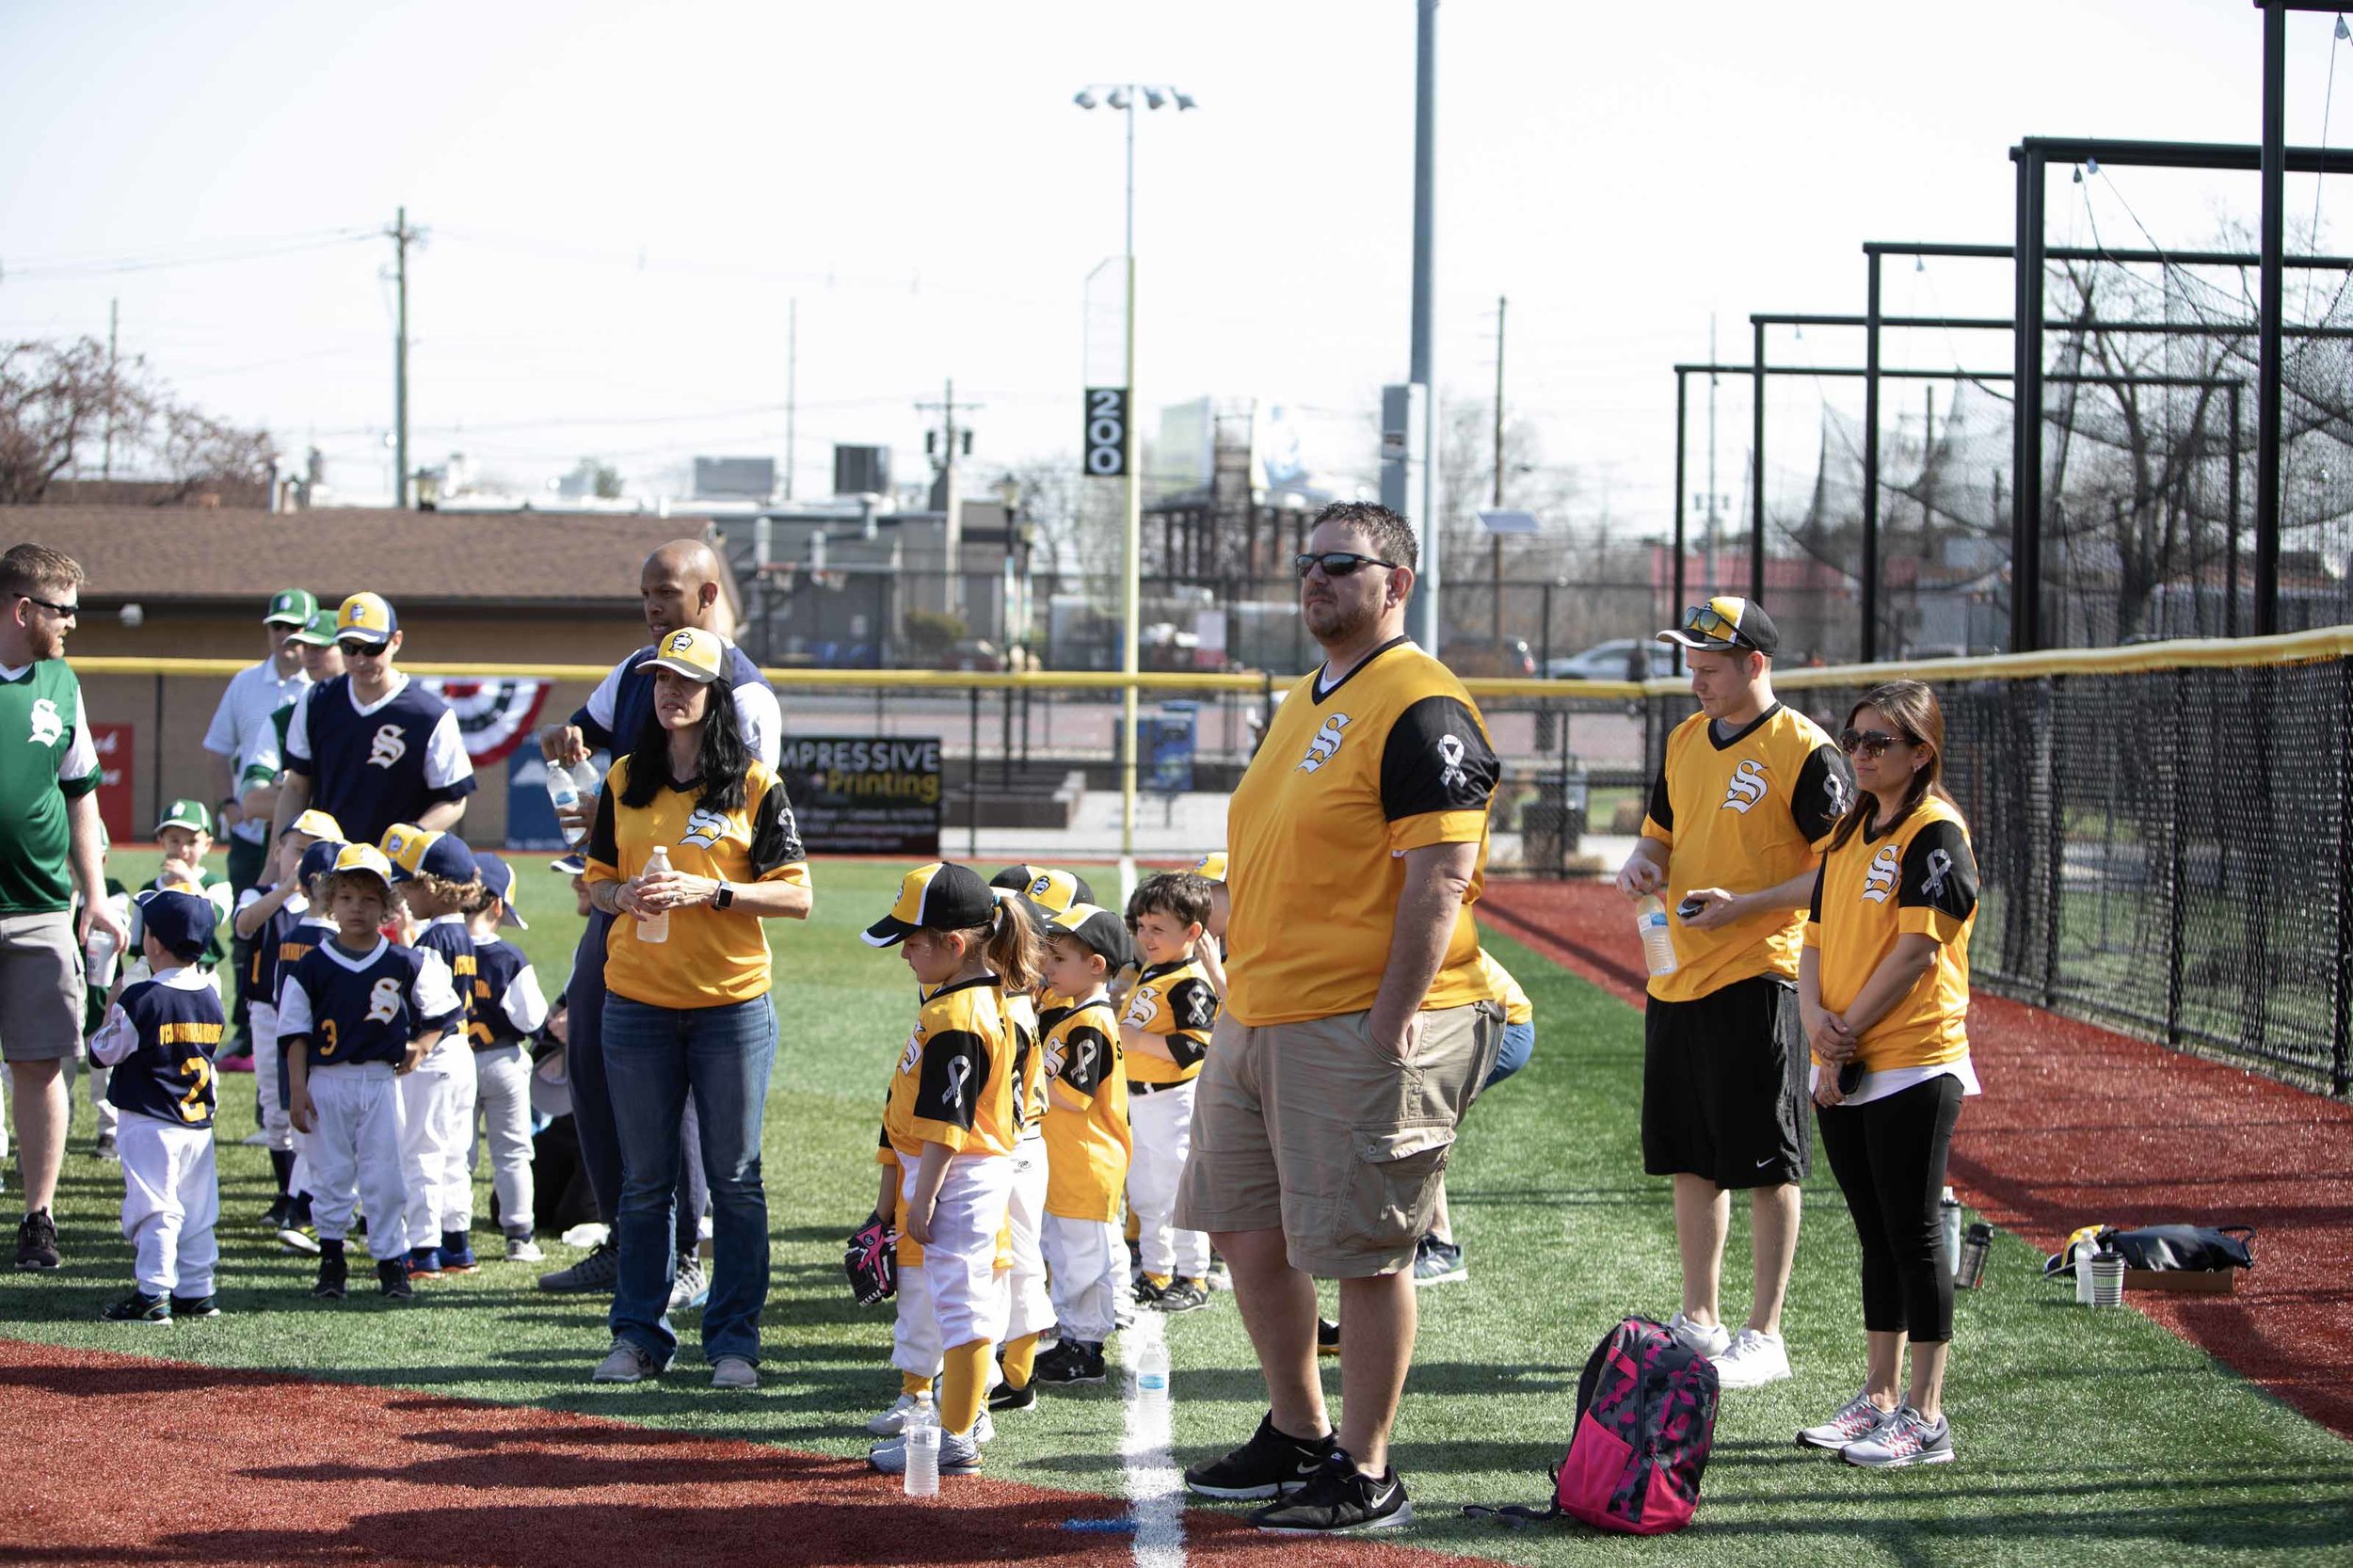
[[(984, 1476), (913, 1502), (864, 1462), (626, 1422), (0, 1340), (0, 1563), (1125, 1568), (1115, 1497)], [(1200, 1563), (1452, 1568), (1188, 1511)], [(1494, 1563), (1478, 1563), (1494, 1568)]]

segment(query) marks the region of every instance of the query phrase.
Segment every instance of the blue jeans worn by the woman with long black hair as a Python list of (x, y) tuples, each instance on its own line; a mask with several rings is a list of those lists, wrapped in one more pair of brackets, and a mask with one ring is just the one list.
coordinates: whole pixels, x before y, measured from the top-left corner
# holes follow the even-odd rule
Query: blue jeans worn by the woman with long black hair
[(649, 1008), (605, 994), (605, 1078), (621, 1142), (621, 1276), (612, 1333), (656, 1363), (678, 1349), (666, 1318), (678, 1276), (675, 1194), (687, 1090), (711, 1177), (711, 1304), (704, 1356), (760, 1358), (767, 1304), (767, 1189), (760, 1121), (776, 1062), (776, 1010), (767, 996), (720, 1008)]

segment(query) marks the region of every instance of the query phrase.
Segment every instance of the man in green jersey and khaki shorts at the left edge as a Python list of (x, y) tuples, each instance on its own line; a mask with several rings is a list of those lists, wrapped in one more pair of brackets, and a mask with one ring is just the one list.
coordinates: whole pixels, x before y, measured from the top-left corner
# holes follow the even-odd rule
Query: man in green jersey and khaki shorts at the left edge
[(71, 556), (40, 544), (0, 556), (0, 1059), (24, 1177), (19, 1269), (59, 1264), (49, 1203), (71, 1118), (64, 1067), (82, 1048), (82, 944), (125, 942), (106, 906), (99, 751), (64, 659), (80, 591)]

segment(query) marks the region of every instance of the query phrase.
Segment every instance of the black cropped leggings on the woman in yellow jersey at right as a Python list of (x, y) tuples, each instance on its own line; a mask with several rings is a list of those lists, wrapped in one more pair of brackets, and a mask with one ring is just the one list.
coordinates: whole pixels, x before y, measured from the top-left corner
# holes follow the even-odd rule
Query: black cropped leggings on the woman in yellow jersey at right
[(1941, 1074), (1871, 1104), (1824, 1107), (1819, 1118), (1821, 1151), (1864, 1243), (1864, 1328), (1944, 1344), (1953, 1337), (1953, 1264), (1937, 1203), (1960, 1078)]

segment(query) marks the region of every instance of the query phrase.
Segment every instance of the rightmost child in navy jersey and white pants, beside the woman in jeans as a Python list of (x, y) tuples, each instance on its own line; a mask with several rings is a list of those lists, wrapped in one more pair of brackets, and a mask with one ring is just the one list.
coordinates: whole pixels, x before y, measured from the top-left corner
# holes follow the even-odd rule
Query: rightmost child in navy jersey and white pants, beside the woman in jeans
[[(515, 909), (515, 869), (496, 855), (475, 855), (482, 871), (480, 892), (468, 911), (473, 935), (473, 1041), (475, 1104), (489, 1140), (489, 1189), (499, 1198), (499, 1229), (506, 1234), (508, 1262), (539, 1262), (532, 1241), (532, 1036), (548, 1024), (548, 998), (539, 972), (522, 949), (499, 939), (501, 925), (529, 930)], [(466, 1151), (473, 1170), (482, 1151), (475, 1135)]]

